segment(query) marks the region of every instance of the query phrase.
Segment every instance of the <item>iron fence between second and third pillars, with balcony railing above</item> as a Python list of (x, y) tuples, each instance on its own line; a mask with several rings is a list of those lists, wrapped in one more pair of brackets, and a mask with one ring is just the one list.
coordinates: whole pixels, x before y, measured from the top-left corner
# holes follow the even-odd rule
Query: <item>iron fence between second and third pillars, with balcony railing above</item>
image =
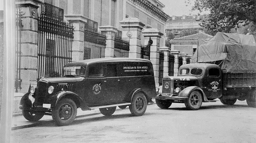
[(87, 19), (84, 36), (84, 60), (105, 58), (106, 35), (98, 32), (98, 23)]

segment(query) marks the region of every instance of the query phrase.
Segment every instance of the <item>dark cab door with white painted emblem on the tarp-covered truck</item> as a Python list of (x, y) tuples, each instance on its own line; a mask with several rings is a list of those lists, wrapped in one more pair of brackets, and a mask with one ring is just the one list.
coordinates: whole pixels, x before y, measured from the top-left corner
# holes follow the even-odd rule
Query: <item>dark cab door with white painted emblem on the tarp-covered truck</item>
[(207, 69), (206, 79), (206, 97), (208, 99), (215, 99), (222, 96), (222, 81), (221, 69), (210, 67)]

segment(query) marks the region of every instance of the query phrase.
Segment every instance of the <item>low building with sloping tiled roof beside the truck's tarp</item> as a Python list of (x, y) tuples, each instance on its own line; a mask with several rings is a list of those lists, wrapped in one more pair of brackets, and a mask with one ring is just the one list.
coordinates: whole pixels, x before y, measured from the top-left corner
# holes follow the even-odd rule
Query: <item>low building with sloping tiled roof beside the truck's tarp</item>
[[(179, 34), (176, 34), (178, 36)], [(209, 39), (213, 36), (205, 33), (196, 33), (188, 36), (174, 38), (170, 40), (171, 50), (178, 50), (188, 55), (193, 55), (198, 47), (198, 39)]]

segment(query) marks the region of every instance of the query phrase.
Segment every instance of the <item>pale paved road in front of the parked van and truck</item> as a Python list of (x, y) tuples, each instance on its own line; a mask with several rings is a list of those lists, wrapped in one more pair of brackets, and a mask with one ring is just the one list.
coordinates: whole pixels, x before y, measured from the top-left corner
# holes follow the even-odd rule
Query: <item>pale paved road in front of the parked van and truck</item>
[[(91, 112), (91, 111), (88, 111)], [(255, 143), (256, 108), (246, 101), (234, 106), (203, 103), (197, 111), (173, 103), (166, 110), (149, 105), (143, 116), (133, 117), (127, 107), (111, 117), (101, 114), (76, 118), (69, 126), (53, 122), (12, 131), (12, 142), (203, 142)], [(43, 122), (43, 121), (41, 121)]]

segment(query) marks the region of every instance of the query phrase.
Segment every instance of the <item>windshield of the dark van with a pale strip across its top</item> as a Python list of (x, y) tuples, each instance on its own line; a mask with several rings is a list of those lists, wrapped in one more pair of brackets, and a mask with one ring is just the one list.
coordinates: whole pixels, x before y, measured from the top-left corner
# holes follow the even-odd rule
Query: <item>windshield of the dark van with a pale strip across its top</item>
[(80, 75), (85, 76), (86, 66), (66, 66), (63, 67), (62, 77), (68, 75)]

